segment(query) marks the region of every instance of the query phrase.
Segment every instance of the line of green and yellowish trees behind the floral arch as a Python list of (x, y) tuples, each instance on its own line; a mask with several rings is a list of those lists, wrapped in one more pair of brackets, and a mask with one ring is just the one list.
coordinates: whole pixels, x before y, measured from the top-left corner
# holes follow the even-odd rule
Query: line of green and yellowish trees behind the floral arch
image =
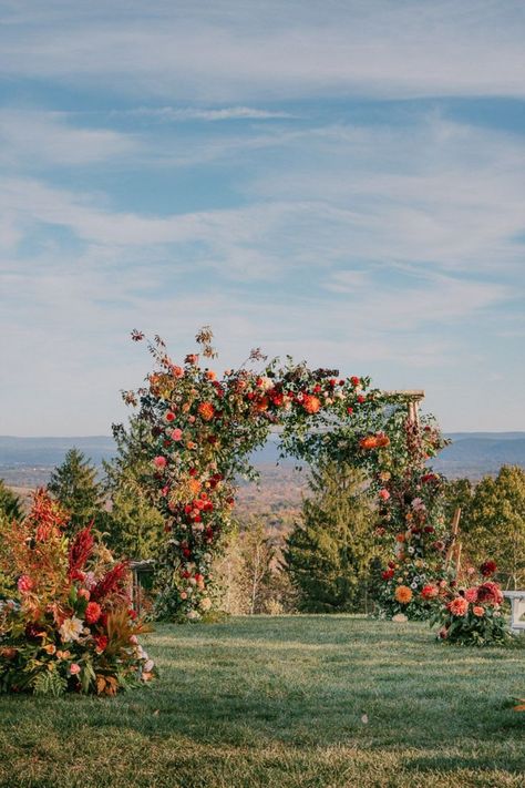
[[(154, 559), (163, 521), (141, 478), (142, 426), (115, 432), (115, 458), (103, 478), (76, 449), (54, 469), (49, 491), (71, 513), (70, 529), (93, 521), (119, 556)], [(507, 589), (525, 585), (525, 472), (504, 465), (478, 483), (446, 483), (446, 516), (460, 506), (464, 561), (487, 556)], [(0, 480), (0, 518), (22, 516), (22, 506)], [(1, 549), (1, 547), (0, 547)], [(351, 465), (327, 462), (309, 471), (301, 514), (282, 534), (264, 516), (237, 522), (215, 567), (223, 608), (233, 614), (370, 612), (374, 576), (384, 560), (375, 539), (375, 510), (363, 477)], [(1, 577), (0, 577), (1, 593)]]

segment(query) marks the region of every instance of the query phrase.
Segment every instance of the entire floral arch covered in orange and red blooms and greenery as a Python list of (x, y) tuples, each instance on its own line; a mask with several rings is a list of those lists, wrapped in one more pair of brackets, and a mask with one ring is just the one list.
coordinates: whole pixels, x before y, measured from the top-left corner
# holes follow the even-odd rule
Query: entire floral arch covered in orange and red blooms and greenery
[[(135, 330), (132, 338), (142, 341), (144, 335)], [(282, 454), (350, 461), (364, 470), (378, 501), (378, 536), (393, 541), (402, 522), (403, 551), (395, 559), (402, 583), (382, 581), (381, 607), (392, 615), (428, 614), (426, 600), (413, 591), (443, 572), (445, 523), (434, 505), (441, 479), (424, 471), (444, 444), (436, 427), (409, 423), (406, 400), (372, 389), (369, 378), (340, 378), (289, 357), (285, 365), (268, 362), (260, 350), (219, 379), (200, 364), (216, 357), (212, 338), (203, 329), (199, 352), (177, 365), (155, 337), (148, 342), (154, 371), (143, 388), (123, 392), (150, 427), (150, 474), (143, 481), (165, 518), (157, 615), (195, 621), (213, 608), (213, 561), (229, 528), (236, 478), (256, 475), (249, 457), (274, 426), (281, 428)], [(247, 367), (255, 362), (262, 369)]]

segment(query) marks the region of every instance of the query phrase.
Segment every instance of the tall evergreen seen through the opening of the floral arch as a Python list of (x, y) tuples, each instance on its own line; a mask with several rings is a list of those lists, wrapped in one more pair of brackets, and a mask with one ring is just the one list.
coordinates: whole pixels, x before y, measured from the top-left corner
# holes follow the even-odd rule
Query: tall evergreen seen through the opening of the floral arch
[(313, 469), (302, 522), (287, 539), (285, 561), (306, 612), (360, 610), (378, 556), (373, 511), (351, 465)]

